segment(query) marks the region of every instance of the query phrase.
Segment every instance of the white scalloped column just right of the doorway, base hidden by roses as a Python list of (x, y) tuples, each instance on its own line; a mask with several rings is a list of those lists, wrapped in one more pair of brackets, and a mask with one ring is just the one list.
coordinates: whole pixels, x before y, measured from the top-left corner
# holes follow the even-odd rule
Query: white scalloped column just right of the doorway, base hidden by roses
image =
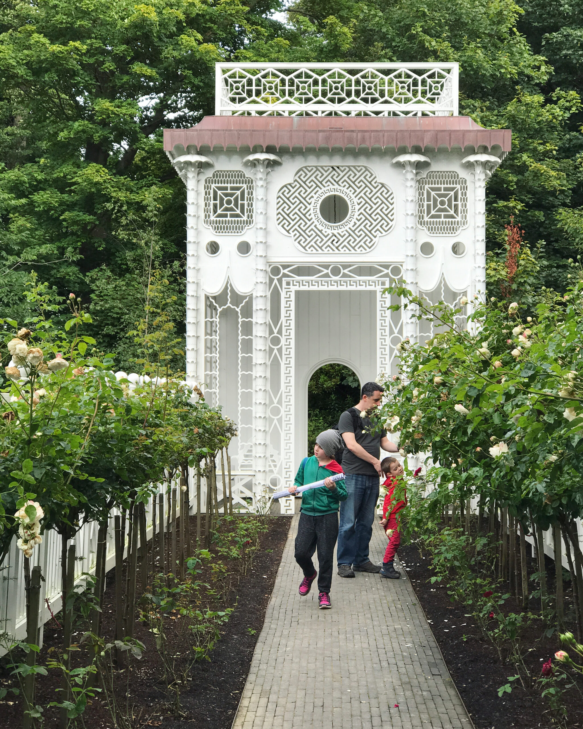
[[(419, 163), (431, 164), (429, 157), (408, 153), (399, 155), (393, 160), (394, 165), (403, 165), (405, 178), (405, 206), (404, 206), (404, 233), (405, 233), (405, 265), (403, 278), (407, 289), (417, 295), (417, 165)], [(415, 314), (416, 308), (411, 305), (407, 308), (410, 314)], [(411, 342), (417, 340), (417, 319), (405, 316), (403, 322), (404, 337)]]

